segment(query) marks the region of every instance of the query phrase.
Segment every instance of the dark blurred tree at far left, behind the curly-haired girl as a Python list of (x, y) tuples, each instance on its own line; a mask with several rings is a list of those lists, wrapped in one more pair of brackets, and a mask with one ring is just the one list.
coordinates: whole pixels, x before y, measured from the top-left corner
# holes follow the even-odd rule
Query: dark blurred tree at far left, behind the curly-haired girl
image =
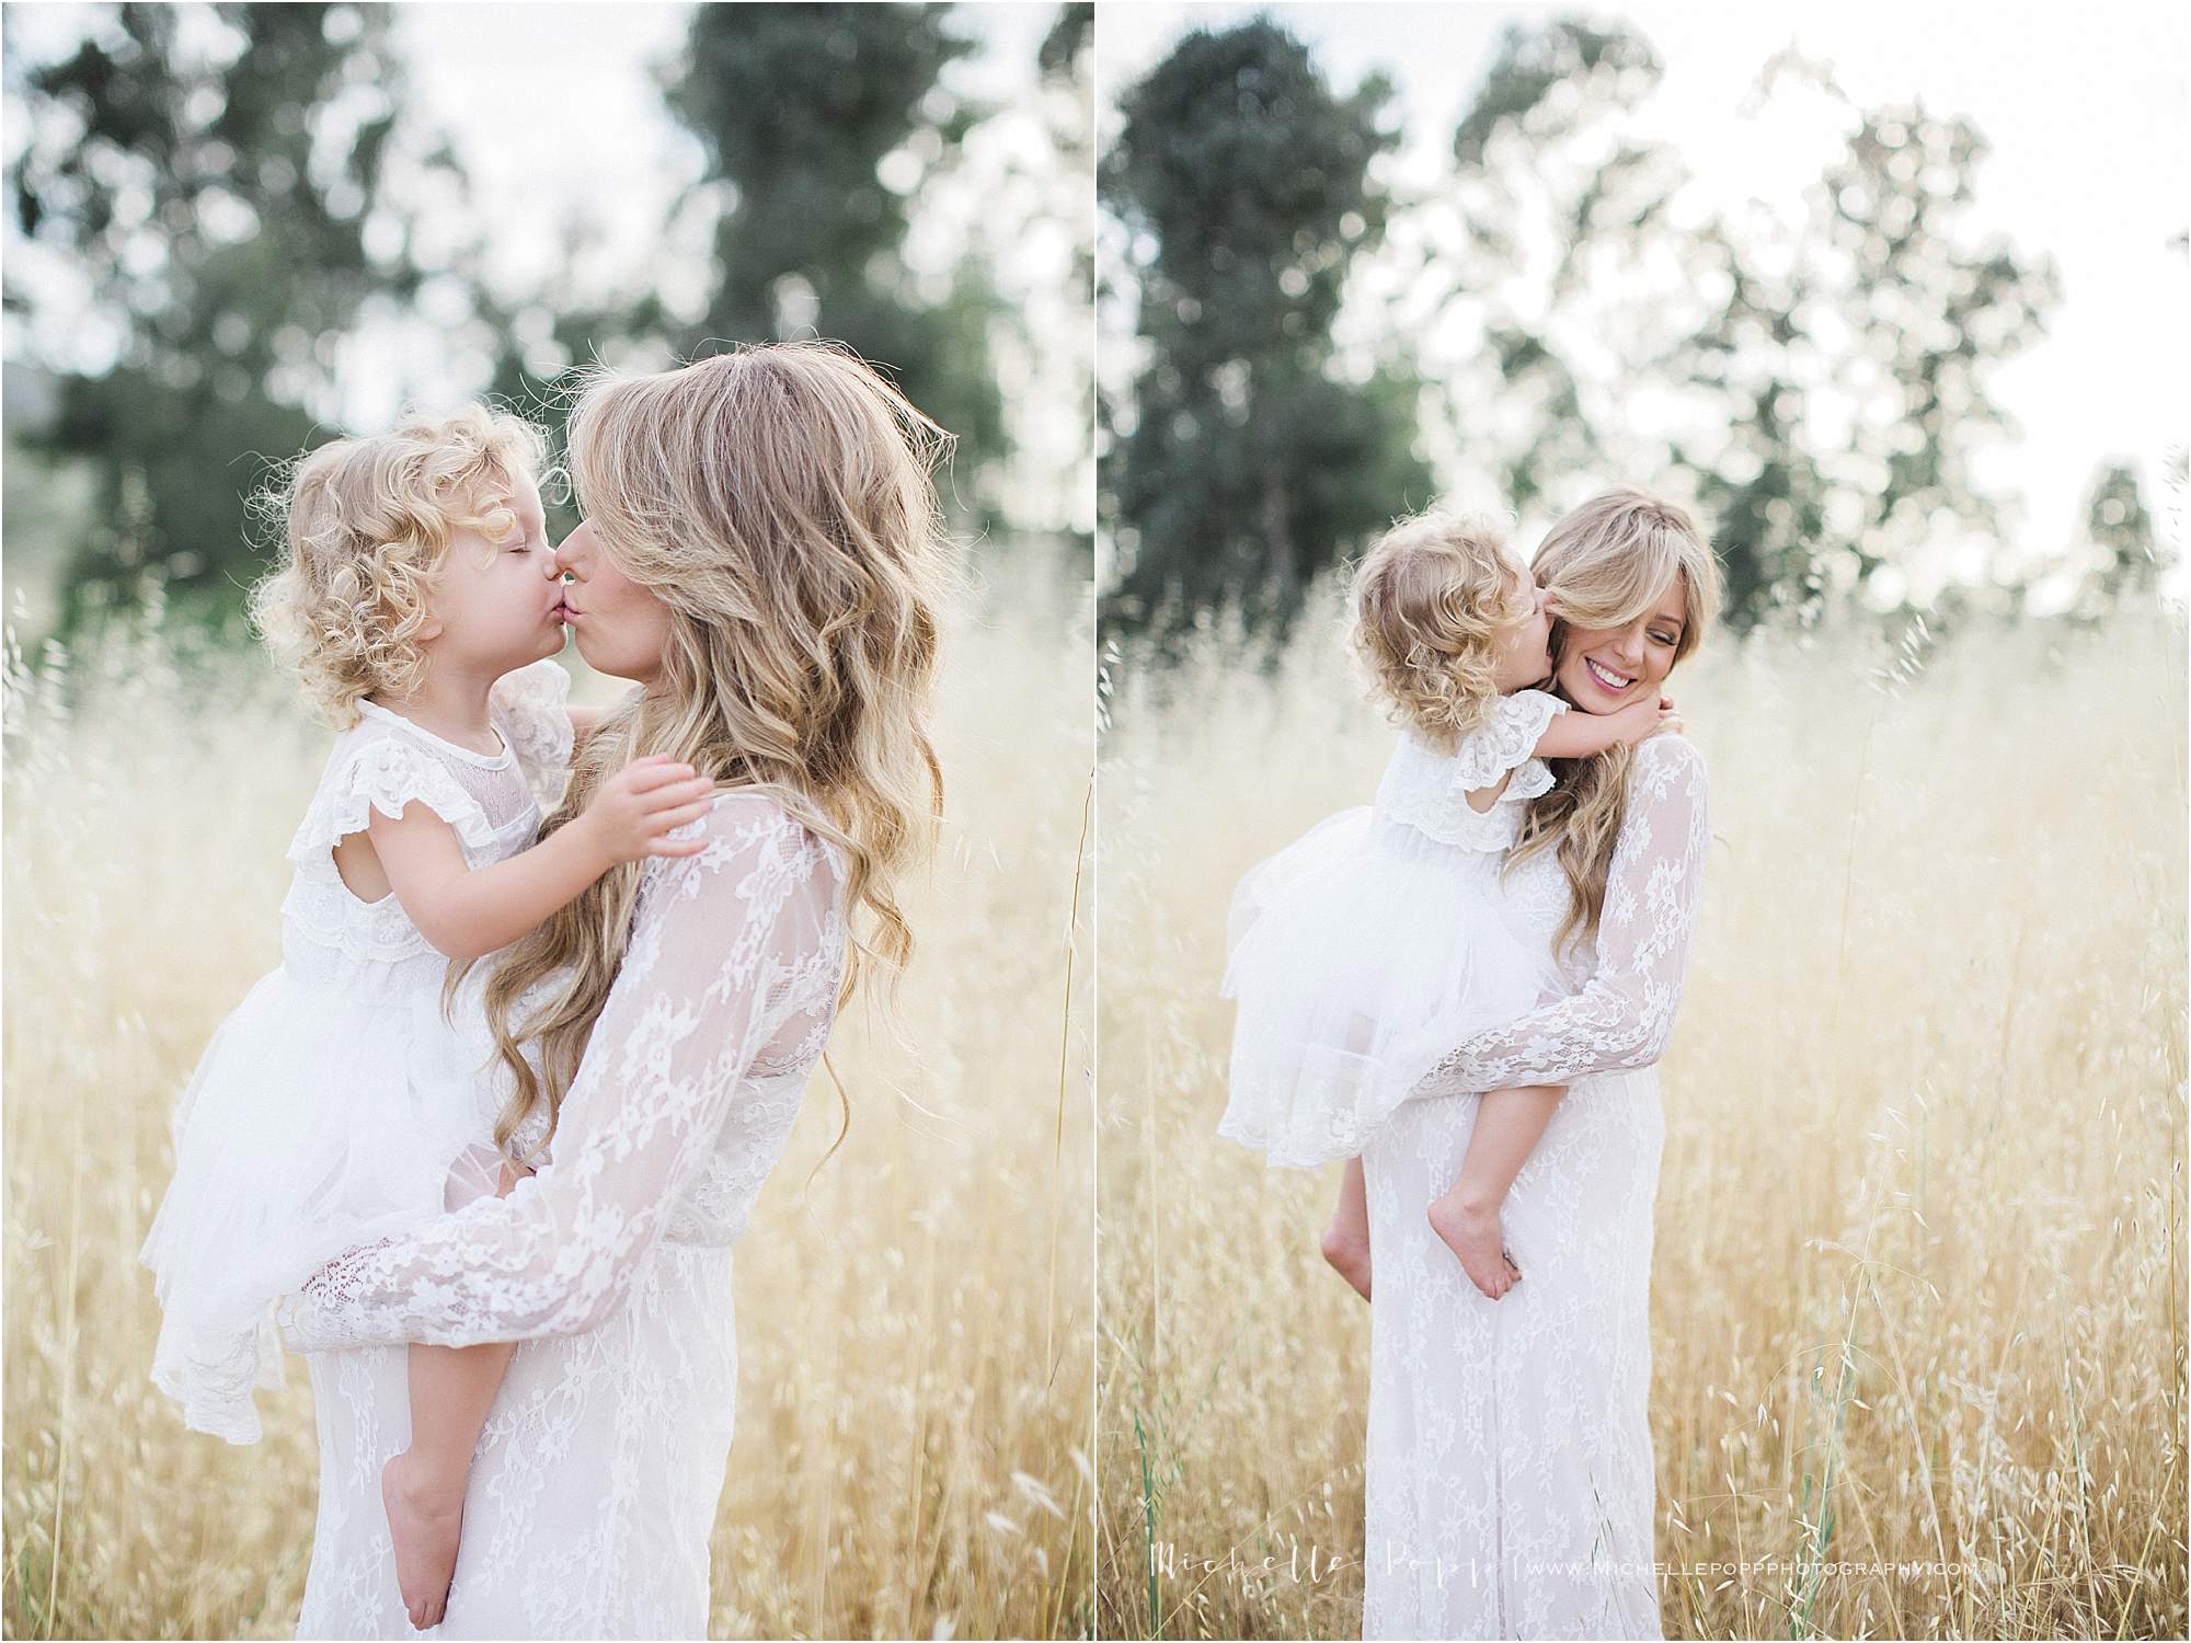
[[(184, 607), (234, 607), (259, 570), (248, 495), (318, 432), (366, 298), (416, 287), (381, 191), (403, 103), (388, 28), (383, 7), (123, 4), (11, 72), (33, 110), (18, 223), (118, 329), (112, 368), (61, 375), (35, 438), (99, 475), (66, 622), (147, 565)], [(7, 302), (26, 309), (13, 285)]]

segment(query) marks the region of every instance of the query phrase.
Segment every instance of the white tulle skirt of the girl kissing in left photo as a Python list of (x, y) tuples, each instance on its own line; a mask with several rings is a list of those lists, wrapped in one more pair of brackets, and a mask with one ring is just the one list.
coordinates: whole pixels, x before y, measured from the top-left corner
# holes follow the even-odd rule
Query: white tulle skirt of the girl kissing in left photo
[(438, 986), (375, 995), (291, 966), (219, 1025), (142, 1249), (162, 1308), (151, 1376), (193, 1431), (259, 1439), (252, 1389), (280, 1385), (274, 1299), (493, 1190), (484, 1047), (440, 1019)]

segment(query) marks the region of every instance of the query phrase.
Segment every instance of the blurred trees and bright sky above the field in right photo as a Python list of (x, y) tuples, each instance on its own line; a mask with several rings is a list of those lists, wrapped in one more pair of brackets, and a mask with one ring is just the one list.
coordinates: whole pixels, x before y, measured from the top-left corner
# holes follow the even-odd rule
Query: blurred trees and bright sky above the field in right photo
[(1610, 482), (1737, 629), (2180, 596), (2184, 61), (2143, 4), (1104, 13), (1106, 629)]

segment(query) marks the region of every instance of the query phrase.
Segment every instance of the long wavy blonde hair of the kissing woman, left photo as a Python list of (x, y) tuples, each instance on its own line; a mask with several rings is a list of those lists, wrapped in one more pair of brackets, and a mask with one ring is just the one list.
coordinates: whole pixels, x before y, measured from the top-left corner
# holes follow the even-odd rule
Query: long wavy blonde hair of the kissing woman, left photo
[[(662, 677), (578, 747), (543, 837), (646, 754), (716, 786), (771, 791), (850, 868), (839, 1003), (868, 966), (883, 966), (892, 990), (903, 975), (914, 933), (898, 878), (933, 846), (942, 813), (929, 703), (955, 583), (933, 482), (949, 447), (859, 355), (819, 342), (649, 377), (600, 370), (570, 418), (578, 504), (607, 559), (668, 609), (670, 631)], [(539, 1108), (554, 1135), (638, 889), (640, 863), (611, 868), (495, 966), (486, 1019), (517, 1084), (500, 1144)], [(521, 1045), (537, 1047), (539, 1071)]]

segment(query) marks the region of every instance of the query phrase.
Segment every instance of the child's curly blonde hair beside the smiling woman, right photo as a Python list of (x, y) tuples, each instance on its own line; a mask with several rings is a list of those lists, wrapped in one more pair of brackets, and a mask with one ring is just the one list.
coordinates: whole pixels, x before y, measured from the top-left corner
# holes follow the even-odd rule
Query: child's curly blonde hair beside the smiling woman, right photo
[(1350, 609), (1372, 692), (1450, 749), (1490, 714), (1499, 635), (1534, 616), (1536, 585), (1496, 519), (1426, 508), (1376, 539)]

